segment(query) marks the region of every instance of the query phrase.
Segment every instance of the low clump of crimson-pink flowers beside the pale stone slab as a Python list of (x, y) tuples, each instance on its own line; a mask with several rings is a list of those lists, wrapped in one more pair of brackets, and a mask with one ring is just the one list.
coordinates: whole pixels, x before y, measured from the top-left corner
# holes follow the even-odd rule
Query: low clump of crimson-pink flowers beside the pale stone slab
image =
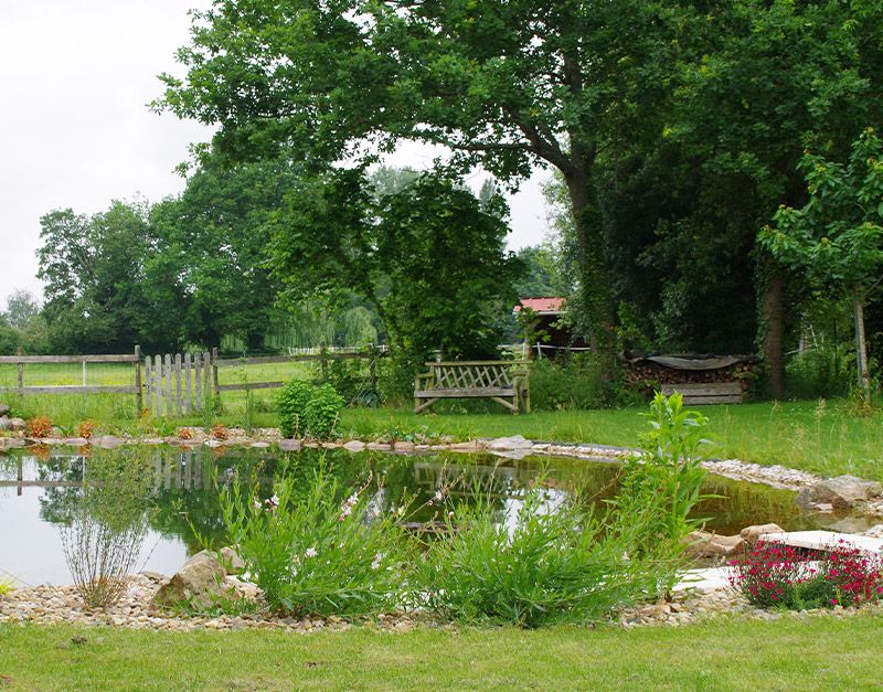
[(788, 545), (759, 541), (730, 565), (731, 586), (762, 608), (832, 608), (883, 597), (881, 558), (842, 539), (818, 562)]

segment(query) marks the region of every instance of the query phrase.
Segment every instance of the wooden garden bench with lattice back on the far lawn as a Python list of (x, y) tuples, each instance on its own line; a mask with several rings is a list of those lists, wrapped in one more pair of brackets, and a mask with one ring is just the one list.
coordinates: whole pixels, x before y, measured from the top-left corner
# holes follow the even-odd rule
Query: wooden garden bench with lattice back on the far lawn
[(531, 411), (528, 361), (460, 361), (426, 363), (429, 372), (414, 381), (414, 413), (442, 398), (490, 398), (518, 413)]

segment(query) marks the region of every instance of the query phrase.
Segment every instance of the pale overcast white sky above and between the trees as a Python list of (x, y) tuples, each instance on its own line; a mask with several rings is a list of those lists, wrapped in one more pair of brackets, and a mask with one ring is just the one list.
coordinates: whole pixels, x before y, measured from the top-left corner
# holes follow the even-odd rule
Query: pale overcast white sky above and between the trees
[[(96, 213), (111, 200), (177, 194), (174, 167), (211, 129), (147, 107), (161, 72), (182, 75), (187, 10), (209, 0), (2, 0), (0, 8), (0, 307), (14, 289), (41, 294), (40, 216)], [(391, 162), (425, 168), (433, 153), (408, 146)], [(542, 242), (546, 212), (538, 172), (510, 198), (519, 248)], [(480, 184), (481, 174), (470, 184)]]

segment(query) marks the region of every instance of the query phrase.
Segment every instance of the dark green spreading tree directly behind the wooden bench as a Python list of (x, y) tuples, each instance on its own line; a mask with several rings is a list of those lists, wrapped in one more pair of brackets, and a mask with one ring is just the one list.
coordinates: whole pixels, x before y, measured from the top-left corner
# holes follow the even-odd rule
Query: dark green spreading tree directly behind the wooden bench
[(289, 301), (370, 300), (405, 368), (435, 349), (486, 356), (514, 302), (504, 213), (447, 177), (379, 196), (360, 171), (332, 169), (292, 191), (269, 252)]

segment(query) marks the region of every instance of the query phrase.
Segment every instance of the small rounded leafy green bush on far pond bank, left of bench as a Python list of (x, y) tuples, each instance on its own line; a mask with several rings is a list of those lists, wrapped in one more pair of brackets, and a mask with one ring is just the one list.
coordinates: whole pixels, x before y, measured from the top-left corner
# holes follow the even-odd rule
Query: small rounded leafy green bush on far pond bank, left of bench
[(313, 386), (291, 380), (278, 398), (279, 429), (283, 437), (309, 435), (329, 439), (334, 435), (345, 402), (330, 384)]

